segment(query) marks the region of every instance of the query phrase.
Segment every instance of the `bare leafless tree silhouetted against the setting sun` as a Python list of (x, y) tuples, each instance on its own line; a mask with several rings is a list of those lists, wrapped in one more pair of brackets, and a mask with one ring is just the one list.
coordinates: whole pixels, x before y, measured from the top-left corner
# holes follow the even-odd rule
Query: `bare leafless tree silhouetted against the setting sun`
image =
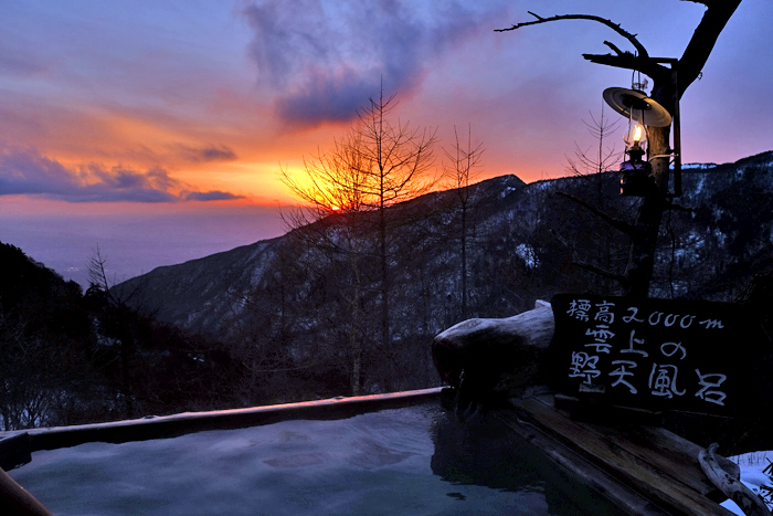
[[(350, 263), (349, 305), (352, 325), (350, 346), (353, 354), (352, 390), (360, 388), (361, 347), (356, 343), (354, 324), (361, 313), (363, 278), (361, 259), (375, 257), (379, 267), (379, 299), (381, 308), (381, 349), (391, 356), (390, 339), (390, 275), (389, 230), (396, 221), (389, 208), (426, 193), (436, 183), (431, 177), (436, 131), (411, 128), (407, 122), (393, 124), (389, 114), (395, 106), (394, 96), (378, 99), (359, 110), (353, 127), (335, 140), (328, 151), (305, 158), (304, 169), (296, 175), (282, 169), (280, 179), (304, 202), (304, 207), (287, 212), (285, 221), (309, 241), (347, 255)], [(373, 219), (375, 249), (367, 244), (369, 221)], [(330, 232), (331, 228), (336, 231)], [(372, 261), (372, 260), (371, 260)], [(357, 378), (354, 378), (357, 377)], [(388, 382), (383, 377), (382, 382)], [(388, 389), (388, 386), (382, 386)]]

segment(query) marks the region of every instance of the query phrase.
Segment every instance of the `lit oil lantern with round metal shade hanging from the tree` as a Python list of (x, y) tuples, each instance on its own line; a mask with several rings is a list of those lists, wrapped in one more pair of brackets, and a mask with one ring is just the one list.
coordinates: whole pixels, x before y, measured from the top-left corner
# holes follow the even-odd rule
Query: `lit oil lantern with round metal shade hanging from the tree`
[(628, 118), (628, 130), (624, 137), (628, 159), (620, 166), (620, 193), (647, 196), (655, 189), (653, 167), (643, 159), (647, 154), (647, 127), (666, 127), (671, 123), (671, 115), (638, 89), (608, 87), (604, 89), (604, 101)]

